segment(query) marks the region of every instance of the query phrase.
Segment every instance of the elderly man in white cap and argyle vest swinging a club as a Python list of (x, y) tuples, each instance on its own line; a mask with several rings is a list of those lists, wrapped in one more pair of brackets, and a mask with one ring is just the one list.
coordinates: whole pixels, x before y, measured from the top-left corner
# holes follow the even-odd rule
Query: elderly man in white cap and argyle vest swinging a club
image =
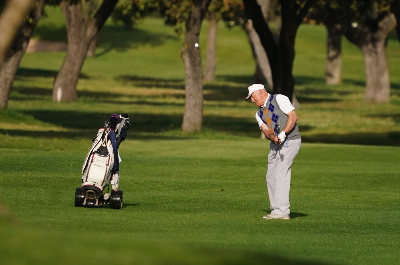
[(260, 84), (251, 85), (248, 89), (245, 100), (251, 99), (259, 107), (256, 120), (262, 132), (271, 140), (266, 176), (271, 214), (263, 218), (288, 220), (290, 166), (301, 144), (297, 115), (288, 97), (270, 95)]

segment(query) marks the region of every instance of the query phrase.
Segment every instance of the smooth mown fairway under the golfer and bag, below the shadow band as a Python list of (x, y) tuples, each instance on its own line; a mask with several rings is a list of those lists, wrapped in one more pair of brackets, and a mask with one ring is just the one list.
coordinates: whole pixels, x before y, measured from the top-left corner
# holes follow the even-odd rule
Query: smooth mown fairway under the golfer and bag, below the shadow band
[[(22, 138), (20, 144), (28, 140)], [(2, 148), (0, 166), (8, 179), (0, 200), (16, 224), (1, 233), (4, 242), (24, 237), (20, 230), (30, 227), (28, 235), (40, 242), (32, 242), (36, 248), (52, 241), (52, 247), (62, 249), (65, 258), (50, 254), (49, 261), (72, 262), (68, 255), (80, 249), (78, 238), (99, 240), (104, 249), (112, 244), (121, 255), (114, 257), (117, 261), (137, 261), (130, 252), (122, 255), (121, 249), (130, 246), (133, 253), (138, 246), (152, 253), (152, 242), (167, 252), (159, 258), (168, 256), (167, 242), (173, 242), (175, 248), (169, 247), (178, 252), (197, 246), (221, 255), (233, 249), (243, 256), (254, 253), (254, 262), (259, 255), (321, 264), (398, 261), (396, 147), (303, 144), (292, 166), (292, 220), (283, 221), (262, 219), (268, 212), (268, 150), (260, 139), (127, 140), (120, 147), (125, 202), (120, 211), (73, 206), (90, 140), (56, 146), (51, 140), (36, 142), (36, 150)], [(31, 240), (11, 242), (29, 249)], [(13, 257), (13, 246), (2, 247), (4, 261), (35, 260), (24, 252), (26, 256)], [(87, 249), (96, 251), (98, 246), (90, 243)], [(240, 252), (235, 255), (244, 259)], [(201, 264), (191, 256), (169, 259)]]

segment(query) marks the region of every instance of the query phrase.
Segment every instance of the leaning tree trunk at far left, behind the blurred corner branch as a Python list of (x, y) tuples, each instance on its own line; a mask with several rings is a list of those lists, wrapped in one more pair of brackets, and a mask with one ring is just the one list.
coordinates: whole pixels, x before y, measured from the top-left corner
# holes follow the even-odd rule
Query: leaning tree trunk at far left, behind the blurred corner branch
[(4, 60), (0, 70), (0, 109), (7, 108), (8, 98), (10, 96), (15, 74), (20, 65), (22, 56), (28, 47), (33, 30), (43, 14), (44, 6), (44, 0), (36, 3), (36, 6), (29, 15), (28, 20), (26, 20), (20, 27), (20, 30), (18, 30), (14, 43)]

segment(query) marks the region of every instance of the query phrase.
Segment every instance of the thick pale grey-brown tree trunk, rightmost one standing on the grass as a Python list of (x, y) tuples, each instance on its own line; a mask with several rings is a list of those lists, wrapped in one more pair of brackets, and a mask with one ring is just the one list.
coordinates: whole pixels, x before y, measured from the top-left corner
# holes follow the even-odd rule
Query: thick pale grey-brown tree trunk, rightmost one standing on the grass
[(361, 47), (366, 74), (365, 101), (389, 102), (390, 81), (385, 41)]

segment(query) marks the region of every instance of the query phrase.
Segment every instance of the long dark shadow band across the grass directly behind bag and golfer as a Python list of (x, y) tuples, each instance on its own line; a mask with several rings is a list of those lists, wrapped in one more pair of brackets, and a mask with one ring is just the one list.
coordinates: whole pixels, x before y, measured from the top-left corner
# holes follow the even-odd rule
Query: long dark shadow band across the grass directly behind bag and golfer
[[(32, 136), (48, 138), (82, 138), (92, 139), (97, 133), (97, 129), (104, 125), (110, 113), (91, 113), (79, 111), (22, 111), (22, 114), (32, 116), (38, 121), (60, 126), (70, 131), (28, 131), (28, 130), (0, 130), (2, 135), (12, 136)], [(152, 133), (164, 133), (180, 129), (182, 125), (182, 115), (174, 114), (148, 114), (148, 113), (129, 113), (131, 115), (130, 139), (180, 139), (186, 136), (152, 136)], [(393, 116), (394, 119), (395, 116)], [(205, 115), (203, 126), (215, 132), (224, 133), (232, 136), (246, 136), (259, 138), (260, 131), (253, 119)], [(76, 131), (78, 129), (79, 131)], [(300, 125), (300, 131), (305, 133), (311, 130), (311, 126)], [(147, 135), (146, 135), (147, 134)], [(303, 142), (313, 143), (336, 143), (336, 144), (362, 144), (362, 145), (382, 145), (400, 146), (400, 132), (392, 131), (386, 133), (348, 133), (348, 134), (317, 134), (308, 136), (302, 135)]]

